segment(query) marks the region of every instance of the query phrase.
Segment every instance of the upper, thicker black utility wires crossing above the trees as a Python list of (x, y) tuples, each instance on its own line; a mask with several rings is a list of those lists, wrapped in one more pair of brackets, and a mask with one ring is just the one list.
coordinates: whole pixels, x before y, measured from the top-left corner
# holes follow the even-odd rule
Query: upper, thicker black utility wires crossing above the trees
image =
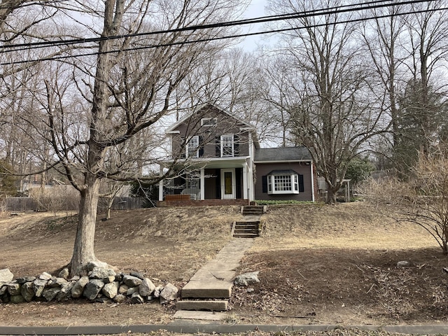
[[(143, 32), (143, 33), (122, 34), (122, 35), (116, 35), (116, 36), (92, 37), (92, 38), (76, 38), (76, 39), (62, 40), (62, 41), (42, 41), (42, 42), (33, 42), (33, 43), (17, 43), (17, 44), (11, 44), (11, 45), (0, 45), (0, 49), (13, 49), (13, 48), (21, 48), (21, 47), (41, 47), (41, 48), (43, 48), (43, 47), (47, 47), (49, 45), (59, 46), (59, 45), (69, 45), (69, 44), (83, 44), (83, 43), (99, 42), (99, 41), (106, 41), (106, 40), (119, 39), (119, 38), (167, 34), (167, 33), (179, 32), (179, 31), (196, 31), (196, 30), (202, 30), (202, 29), (233, 27), (233, 26), (240, 26), (240, 25), (255, 25), (258, 23), (274, 22), (274, 21), (279, 21), (279, 20), (291, 20), (291, 19), (297, 19), (297, 18), (313, 17), (313, 16), (318, 16), (318, 15), (332, 15), (332, 14), (337, 14), (337, 13), (351, 12), (351, 11), (355, 11), (355, 10), (378, 9), (378, 8), (384, 8), (384, 7), (389, 7), (389, 6), (404, 6), (404, 5), (408, 5), (408, 4), (433, 2), (433, 1), (437, 1), (437, 0), (407, 0), (407, 1), (400, 1), (400, 2), (391, 2), (391, 1), (393, 1), (393, 0), (367, 1), (365, 3), (356, 3), (356, 4), (351, 4), (351, 5), (333, 6), (333, 7), (329, 7), (329, 8), (320, 8), (320, 9), (314, 9), (314, 10), (304, 10), (304, 11), (298, 12), (298, 13), (268, 15), (268, 16), (263, 16), (260, 18), (234, 20), (234, 21), (229, 21), (229, 22), (218, 22), (218, 23), (208, 24), (208, 25), (194, 25), (194, 26), (182, 27), (182, 28), (177, 28), (177, 29), (148, 31), (148, 32)], [(365, 6), (365, 5), (367, 5), (367, 6)], [(360, 7), (356, 7), (356, 6), (360, 6)], [(14, 49), (13, 51), (28, 50), (28, 49), (30, 49), (30, 48)]]

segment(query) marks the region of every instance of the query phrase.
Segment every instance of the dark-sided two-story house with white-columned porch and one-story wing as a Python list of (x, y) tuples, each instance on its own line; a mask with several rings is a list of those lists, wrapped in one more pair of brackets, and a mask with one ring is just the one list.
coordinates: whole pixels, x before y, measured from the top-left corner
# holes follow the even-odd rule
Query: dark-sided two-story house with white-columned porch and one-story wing
[(172, 158), (160, 162), (160, 172), (169, 167), (176, 177), (160, 182), (161, 206), (314, 201), (317, 184), (307, 148), (260, 148), (255, 127), (218, 106), (202, 106), (167, 134)]

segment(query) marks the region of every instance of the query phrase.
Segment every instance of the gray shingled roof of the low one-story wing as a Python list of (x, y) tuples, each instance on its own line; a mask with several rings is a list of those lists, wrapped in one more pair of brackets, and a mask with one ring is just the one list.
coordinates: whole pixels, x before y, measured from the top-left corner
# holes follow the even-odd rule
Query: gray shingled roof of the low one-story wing
[(258, 148), (255, 151), (254, 162), (272, 161), (311, 161), (311, 153), (304, 146), (300, 147), (279, 147), (279, 148)]

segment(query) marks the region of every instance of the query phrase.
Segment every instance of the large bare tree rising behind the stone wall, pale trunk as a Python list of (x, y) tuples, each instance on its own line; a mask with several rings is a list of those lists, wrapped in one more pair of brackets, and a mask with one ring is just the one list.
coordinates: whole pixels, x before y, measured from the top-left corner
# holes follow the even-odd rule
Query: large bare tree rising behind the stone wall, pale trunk
[[(90, 5), (97, 10), (92, 11)], [(118, 169), (117, 165), (108, 165), (108, 158), (115, 153), (120, 162), (132, 161), (132, 149), (126, 153), (121, 146), (143, 137), (146, 130), (159, 125), (162, 117), (176, 111), (174, 92), (184, 89), (181, 84), (188, 73), (210, 53), (223, 48), (223, 42), (209, 41), (223, 34), (222, 27), (177, 29), (228, 20), (239, 8), (234, 0), (179, 0), (169, 4), (106, 0), (102, 5), (76, 3), (92, 21), (102, 19), (102, 25), (91, 28), (100, 27), (97, 57), (66, 61), (57, 69), (59, 76), (46, 78), (41, 92), (46, 97), (39, 114), (41, 123), (34, 124), (39, 128), (35, 129), (36, 135), (50, 144), (50, 156), (57, 158), (48, 162), (49, 167), (59, 169), (80, 193), (71, 274), (85, 274), (87, 264), (97, 260), (94, 231), (102, 179), (137, 179), (139, 169)], [(135, 34), (142, 29), (172, 30), (164, 34)], [(193, 43), (200, 40), (203, 42)], [(51, 69), (50, 66), (48, 73)], [(68, 83), (67, 73), (71, 73)], [(80, 97), (80, 104), (70, 103)], [(154, 147), (151, 142), (149, 146)], [(158, 156), (160, 153), (151, 153), (140, 162), (149, 165)]]

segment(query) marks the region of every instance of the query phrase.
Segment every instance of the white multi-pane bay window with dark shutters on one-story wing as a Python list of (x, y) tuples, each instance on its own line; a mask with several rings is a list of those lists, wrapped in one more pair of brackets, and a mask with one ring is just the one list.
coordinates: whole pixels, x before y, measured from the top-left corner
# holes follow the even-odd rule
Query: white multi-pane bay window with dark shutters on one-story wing
[(263, 193), (274, 194), (298, 194), (304, 191), (303, 175), (293, 170), (272, 171), (263, 176)]

